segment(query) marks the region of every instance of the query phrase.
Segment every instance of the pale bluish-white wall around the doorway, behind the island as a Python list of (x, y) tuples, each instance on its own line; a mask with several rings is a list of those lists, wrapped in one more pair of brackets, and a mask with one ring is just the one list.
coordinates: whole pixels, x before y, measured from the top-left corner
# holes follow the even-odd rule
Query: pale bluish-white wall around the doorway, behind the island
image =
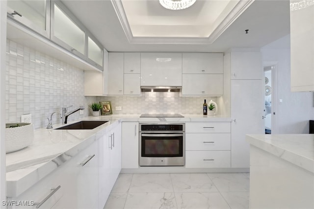
[(313, 93), (290, 92), (290, 35), (262, 47), (263, 62), (277, 63), (276, 124), (278, 132), (272, 134), (307, 134), (309, 120), (314, 119)]

